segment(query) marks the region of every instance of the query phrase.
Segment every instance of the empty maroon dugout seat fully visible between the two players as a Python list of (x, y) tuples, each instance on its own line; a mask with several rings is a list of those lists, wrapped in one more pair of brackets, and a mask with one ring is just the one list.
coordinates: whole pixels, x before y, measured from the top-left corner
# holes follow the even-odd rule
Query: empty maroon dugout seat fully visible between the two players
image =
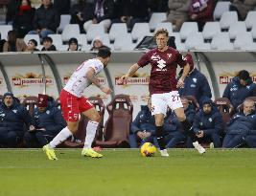
[[(132, 120), (133, 105), (128, 95), (116, 95), (106, 106), (109, 114), (105, 121), (105, 141), (96, 142), (96, 145), (107, 147), (108, 142), (113, 142), (111, 147), (129, 147), (128, 135)], [(115, 145), (114, 145), (114, 142)]]

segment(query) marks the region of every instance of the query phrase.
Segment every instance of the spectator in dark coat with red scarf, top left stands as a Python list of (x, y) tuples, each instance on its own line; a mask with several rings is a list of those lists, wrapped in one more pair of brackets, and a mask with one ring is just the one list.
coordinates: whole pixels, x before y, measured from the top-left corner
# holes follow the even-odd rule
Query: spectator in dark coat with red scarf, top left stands
[(35, 9), (31, 7), (31, 1), (22, 0), (12, 25), (20, 38), (23, 38), (27, 33), (33, 30), (34, 14)]

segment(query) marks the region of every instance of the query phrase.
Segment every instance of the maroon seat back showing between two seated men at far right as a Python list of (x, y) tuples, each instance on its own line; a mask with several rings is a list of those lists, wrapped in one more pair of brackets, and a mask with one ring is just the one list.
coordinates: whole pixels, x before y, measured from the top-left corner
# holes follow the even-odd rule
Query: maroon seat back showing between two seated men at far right
[(216, 98), (214, 103), (221, 113), (223, 122), (227, 123), (234, 113), (234, 107), (230, 100), (228, 98)]

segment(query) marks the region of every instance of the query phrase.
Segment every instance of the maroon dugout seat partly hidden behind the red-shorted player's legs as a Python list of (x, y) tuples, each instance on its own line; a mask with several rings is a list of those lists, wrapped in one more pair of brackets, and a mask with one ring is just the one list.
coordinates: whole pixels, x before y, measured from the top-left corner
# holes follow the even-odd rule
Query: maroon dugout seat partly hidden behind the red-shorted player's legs
[[(98, 129), (96, 131), (95, 139), (93, 145), (95, 145), (95, 141), (102, 142), (103, 141), (103, 128), (104, 128), (104, 115), (105, 115), (105, 104), (102, 98), (99, 97), (90, 97), (89, 101), (94, 105), (96, 110), (99, 112), (102, 117), (101, 122), (99, 123)], [(86, 126), (89, 119), (81, 116), (81, 120), (79, 123), (79, 129), (77, 133), (74, 134), (74, 141), (67, 140), (63, 142), (60, 146), (63, 147), (82, 147), (84, 144), (85, 136), (86, 136)], [(116, 142), (115, 142), (116, 143)]]

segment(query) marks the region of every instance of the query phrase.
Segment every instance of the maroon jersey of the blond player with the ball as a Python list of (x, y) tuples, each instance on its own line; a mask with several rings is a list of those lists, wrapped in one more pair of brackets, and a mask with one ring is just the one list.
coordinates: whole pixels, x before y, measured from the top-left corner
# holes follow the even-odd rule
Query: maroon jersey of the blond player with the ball
[(187, 64), (182, 54), (168, 47), (165, 52), (152, 49), (138, 61), (140, 67), (151, 63), (150, 94), (162, 94), (176, 91), (176, 68)]

